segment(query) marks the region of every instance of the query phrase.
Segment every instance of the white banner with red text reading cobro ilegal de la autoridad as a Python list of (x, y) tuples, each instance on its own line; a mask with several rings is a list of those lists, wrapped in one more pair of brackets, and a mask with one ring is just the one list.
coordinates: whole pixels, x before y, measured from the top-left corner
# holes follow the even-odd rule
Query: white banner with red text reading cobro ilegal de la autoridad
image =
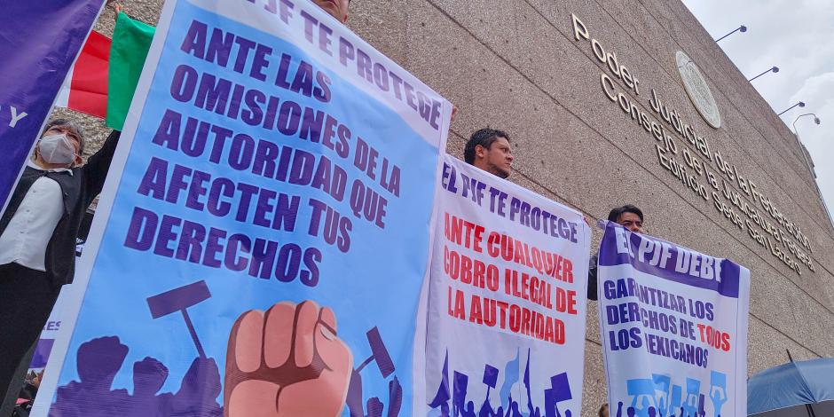
[(587, 224), (448, 155), (441, 181), (415, 415), (578, 416)]

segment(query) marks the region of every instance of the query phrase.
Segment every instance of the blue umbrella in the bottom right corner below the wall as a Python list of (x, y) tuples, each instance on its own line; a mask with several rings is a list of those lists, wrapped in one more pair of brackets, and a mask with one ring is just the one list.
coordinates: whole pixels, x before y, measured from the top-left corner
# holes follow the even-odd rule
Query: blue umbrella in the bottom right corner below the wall
[(834, 415), (834, 358), (791, 361), (754, 374), (747, 380), (747, 414)]

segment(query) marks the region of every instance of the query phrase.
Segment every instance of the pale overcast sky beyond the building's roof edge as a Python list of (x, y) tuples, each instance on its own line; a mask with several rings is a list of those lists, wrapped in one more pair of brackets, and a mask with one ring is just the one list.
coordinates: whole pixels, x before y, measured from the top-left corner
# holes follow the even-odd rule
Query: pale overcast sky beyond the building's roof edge
[(752, 82), (776, 113), (796, 123), (799, 138), (814, 159), (817, 184), (834, 216), (834, 1), (832, 0), (683, 0), (713, 39), (740, 25), (719, 45), (742, 74), (752, 78), (770, 67), (778, 73)]

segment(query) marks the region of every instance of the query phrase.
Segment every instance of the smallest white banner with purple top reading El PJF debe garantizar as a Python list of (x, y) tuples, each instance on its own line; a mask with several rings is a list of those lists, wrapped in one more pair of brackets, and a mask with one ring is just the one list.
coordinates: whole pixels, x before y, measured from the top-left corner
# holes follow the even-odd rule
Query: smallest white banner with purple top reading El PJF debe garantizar
[(600, 329), (610, 415), (747, 415), (750, 271), (605, 224)]

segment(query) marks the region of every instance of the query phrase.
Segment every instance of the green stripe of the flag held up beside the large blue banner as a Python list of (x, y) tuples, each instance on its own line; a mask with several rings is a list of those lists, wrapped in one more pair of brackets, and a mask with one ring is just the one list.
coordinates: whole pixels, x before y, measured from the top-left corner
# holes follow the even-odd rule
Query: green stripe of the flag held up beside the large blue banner
[(130, 101), (145, 66), (147, 51), (151, 49), (156, 28), (132, 20), (122, 12), (116, 18), (113, 43), (110, 45), (110, 69), (107, 73), (108, 128), (122, 130), (130, 109)]

